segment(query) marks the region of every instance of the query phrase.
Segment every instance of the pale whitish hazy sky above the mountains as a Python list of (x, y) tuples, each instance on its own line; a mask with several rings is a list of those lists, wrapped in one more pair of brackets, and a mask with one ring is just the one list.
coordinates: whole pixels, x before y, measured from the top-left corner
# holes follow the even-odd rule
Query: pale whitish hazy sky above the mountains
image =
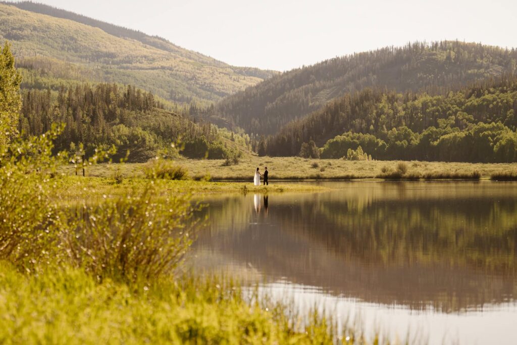
[(415, 40), (517, 47), (516, 0), (36, 0), (237, 66), (287, 70)]

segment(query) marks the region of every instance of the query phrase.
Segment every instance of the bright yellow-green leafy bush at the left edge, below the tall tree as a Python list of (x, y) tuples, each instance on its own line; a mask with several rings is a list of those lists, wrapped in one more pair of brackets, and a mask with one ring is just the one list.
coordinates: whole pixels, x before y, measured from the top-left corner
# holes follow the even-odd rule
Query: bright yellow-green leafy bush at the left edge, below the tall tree
[(16, 141), (0, 150), (0, 260), (29, 269), (54, 256), (62, 226), (60, 208), (51, 202), (60, 157), (52, 143), (60, 128), (44, 137)]

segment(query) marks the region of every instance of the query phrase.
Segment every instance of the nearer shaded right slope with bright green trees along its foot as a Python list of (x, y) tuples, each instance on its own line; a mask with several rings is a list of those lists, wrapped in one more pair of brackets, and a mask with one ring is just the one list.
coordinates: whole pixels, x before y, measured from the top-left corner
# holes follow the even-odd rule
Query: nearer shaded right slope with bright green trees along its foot
[(262, 145), (271, 156), (297, 155), (302, 146), (303, 155), (318, 155), (310, 154), (314, 141), (324, 158), (361, 146), (373, 159), (513, 162), (516, 114), (513, 75), (435, 96), (367, 88), (288, 124)]

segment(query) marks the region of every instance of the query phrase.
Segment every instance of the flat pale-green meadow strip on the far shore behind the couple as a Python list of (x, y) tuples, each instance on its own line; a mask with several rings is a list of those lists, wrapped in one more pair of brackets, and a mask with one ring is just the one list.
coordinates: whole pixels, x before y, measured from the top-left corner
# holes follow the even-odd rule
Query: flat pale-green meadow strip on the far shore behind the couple
[[(237, 165), (224, 166), (223, 160), (180, 159), (176, 161), (188, 170), (190, 178), (209, 176), (212, 181), (251, 181), (256, 167), (261, 172), (267, 166), (272, 180), (302, 179), (355, 179), (355, 178), (489, 178), (495, 174), (516, 172), (517, 163), (461, 163), (461, 162), (402, 162), (406, 168), (399, 171), (400, 161), (347, 161), (342, 159), (305, 159), (300, 157), (245, 157)], [(98, 164), (89, 167), (88, 176), (144, 177), (146, 163)], [(62, 170), (74, 174), (71, 166)], [(391, 173), (391, 174), (390, 174)]]

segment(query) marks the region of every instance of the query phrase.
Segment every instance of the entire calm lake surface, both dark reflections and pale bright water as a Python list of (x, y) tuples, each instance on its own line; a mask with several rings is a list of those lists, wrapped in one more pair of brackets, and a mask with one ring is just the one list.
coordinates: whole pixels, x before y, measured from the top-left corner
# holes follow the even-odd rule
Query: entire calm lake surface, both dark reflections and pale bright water
[(392, 339), (517, 344), (517, 183), (321, 184), (207, 197), (194, 268)]

